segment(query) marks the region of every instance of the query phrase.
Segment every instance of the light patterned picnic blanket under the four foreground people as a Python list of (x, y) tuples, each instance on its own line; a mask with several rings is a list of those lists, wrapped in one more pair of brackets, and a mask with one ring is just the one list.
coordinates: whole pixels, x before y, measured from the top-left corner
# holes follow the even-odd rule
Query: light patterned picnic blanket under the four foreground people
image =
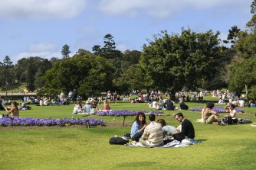
[(185, 146), (190, 146), (190, 145), (194, 145), (196, 143), (202, 143), (203, 140), (182, 140), (182, 142), (179, 142), (178, 140), (173, 140), (170, 143), (167, 143), (164, 146), (156, 146), (156, 147), (152, 147), (152, 146), (143, 146), (141, 143), (127, 143), (126, 146), (135, 146), (135, 147), (146, 147), (146, 148), (179, 148), (179, 147), (185, 147)]

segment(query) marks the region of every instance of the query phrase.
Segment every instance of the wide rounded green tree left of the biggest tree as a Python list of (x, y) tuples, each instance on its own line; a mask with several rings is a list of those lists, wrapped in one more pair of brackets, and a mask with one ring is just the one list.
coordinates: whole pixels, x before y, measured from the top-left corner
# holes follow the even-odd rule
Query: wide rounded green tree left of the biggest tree
[[(100, 56), (73, 56), (54, 64), (44, 76), (44, 91), (57, 95), (77, 88), (80, 95), (100, 95), (112, 88), (113, 68)], [(56, 90), (57, 89), (57, 90)]]

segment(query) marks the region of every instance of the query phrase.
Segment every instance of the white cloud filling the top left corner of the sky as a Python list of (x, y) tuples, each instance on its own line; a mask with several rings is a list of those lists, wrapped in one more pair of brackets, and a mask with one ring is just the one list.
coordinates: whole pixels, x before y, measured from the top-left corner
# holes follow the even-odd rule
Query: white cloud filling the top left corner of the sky
[(1, 0), (0, 18), (74, 18), (85, 5), (85, 0)]

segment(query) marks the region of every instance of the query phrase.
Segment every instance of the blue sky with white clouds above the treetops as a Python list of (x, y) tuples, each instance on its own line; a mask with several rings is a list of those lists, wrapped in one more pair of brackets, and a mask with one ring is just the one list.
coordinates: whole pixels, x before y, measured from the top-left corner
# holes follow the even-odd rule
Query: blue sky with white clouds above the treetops
[(180, 34), (220, 31), (225, 40), (236, 25), (245, 30), (252, 0), (0, 0), (0, 62), (29, 56), (61, 58), (67, 44), (103, 47), (111, 34), (117, 50), (142, 50), (161, 30)]

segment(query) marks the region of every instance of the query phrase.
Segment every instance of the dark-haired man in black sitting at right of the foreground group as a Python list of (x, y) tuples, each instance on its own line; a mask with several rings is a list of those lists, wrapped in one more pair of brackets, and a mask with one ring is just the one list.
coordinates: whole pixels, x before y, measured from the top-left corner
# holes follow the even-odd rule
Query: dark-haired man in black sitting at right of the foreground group
[(181, 132), (175, 133), (173, 135), (173, 138), (175, 140), (182, 141), (184, 139), (187, 140), (194, 140), (195, 138), (195, 129), (193, 127), (193, 124), (191, 121), (184, 118), (182, 113), (175, 114), (174, 118), (179, 121), (179, 123), (182, 123), (181, 126)]

